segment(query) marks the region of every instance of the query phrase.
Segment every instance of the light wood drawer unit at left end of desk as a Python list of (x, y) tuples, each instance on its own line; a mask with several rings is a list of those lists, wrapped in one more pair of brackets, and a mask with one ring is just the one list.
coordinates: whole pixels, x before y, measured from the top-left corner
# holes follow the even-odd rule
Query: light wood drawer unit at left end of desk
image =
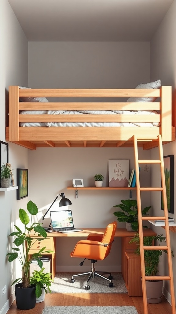
[[(37, 239), (37, 241), (36, 241)], [(52, 273), (52, 278), (54, 278), (56, 273), (56, 255), (55, 255), (55, 249), (56, 249), (56, 238), (55, 237), (47, 237), (46, 239), (39, 241), (39, 238), (36, 237), (33, 239), (33, 246), (32, 249), (29, 251), (29, 257), (32, 256), (32, 254), (39, 252), (42, 247), (46, 246), (45, 250), (52, 250), (53, 253), (42, 253), (42, 255), (46, 255), (50, 258), (50, 272)]]

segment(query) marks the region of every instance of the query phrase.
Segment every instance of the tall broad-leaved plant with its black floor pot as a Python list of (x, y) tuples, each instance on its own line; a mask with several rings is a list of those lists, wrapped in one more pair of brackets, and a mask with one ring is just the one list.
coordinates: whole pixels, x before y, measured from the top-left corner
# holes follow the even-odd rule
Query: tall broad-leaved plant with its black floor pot
[[(22, 268), (22, 278), (16, 279), (15, 284), (15, 297), (17, 308), (20, 310), (29, 310), (35, 307), (36, 303), (36, 285), (30, 284), (29, 268), (31, 262), (36, 259), (39, 267), (42, 268), (43, 262), (39, 259), (43, 253), (51, 253), (51, 250), (45, 251), (46, 246), (41, 248), (39, 252), (35, 252), (30, 258), (28, 255), (29, 250), (32, 249), (33, 244), (36, 241), (42, 241), (47, 237), (45, 229), (39, 222), (32, 222), (33, 216), (38, 214), (38, 208), (32, 201), (27, 203), (28, 213), (20, 208), (19, 219), (24, 225), (24, 230), (14, 225), (16, 231), (12, 232), (10, 236), (15, 237), (13, 239), (13, 252), (6, 254), (8, 261), (13, 262), (16, 258), (19, 260)], [(30, 214), (30, 217), (29, 215)], [(41, 238), (39, 238), (41, 236)], [(36, 237), (36, 238), (35, 238)], [(38, 237), (38, 238), (37, 238)]]

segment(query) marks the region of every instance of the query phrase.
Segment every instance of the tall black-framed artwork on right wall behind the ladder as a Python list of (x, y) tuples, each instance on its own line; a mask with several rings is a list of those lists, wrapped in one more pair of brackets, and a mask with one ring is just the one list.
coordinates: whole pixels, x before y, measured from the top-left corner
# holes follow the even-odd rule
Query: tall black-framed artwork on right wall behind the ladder
[[(168, 213), (174, 213), (174, 155), (164, 156), (164, 175)], [(163, 194), (161, 192), (161, 209), (164, 210)]]

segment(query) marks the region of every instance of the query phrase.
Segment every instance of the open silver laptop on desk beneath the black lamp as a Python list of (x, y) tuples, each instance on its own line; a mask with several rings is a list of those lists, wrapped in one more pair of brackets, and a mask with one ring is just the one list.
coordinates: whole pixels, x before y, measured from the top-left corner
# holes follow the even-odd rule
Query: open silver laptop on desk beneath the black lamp
[(50, 217), (53, 231), (62, 233), (82, 231), (74, 228), (71, 210), (51, 211)]

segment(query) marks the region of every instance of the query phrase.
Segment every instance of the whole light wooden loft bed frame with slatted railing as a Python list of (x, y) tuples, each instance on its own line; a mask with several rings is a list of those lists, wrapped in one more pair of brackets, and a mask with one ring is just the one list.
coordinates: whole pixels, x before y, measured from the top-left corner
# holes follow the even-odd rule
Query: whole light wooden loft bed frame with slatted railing
[[(171, 86), (160, 89), (19, 89), (9, 86), (9, 125), (6, 140), (28, 149), (37, 147), (139, 147), (158, 146), (157, 136), (175, 140), (172, 127)], [(19, 97), (160, 97), (159, 102), (19, 102)], [(82, 98), (81, 98), (82, 100)], [(22, 110), (156, 110), (158, 115), (20, 115)], [(159, 122), (156, 127), (20, 127), (20, 122)]]

